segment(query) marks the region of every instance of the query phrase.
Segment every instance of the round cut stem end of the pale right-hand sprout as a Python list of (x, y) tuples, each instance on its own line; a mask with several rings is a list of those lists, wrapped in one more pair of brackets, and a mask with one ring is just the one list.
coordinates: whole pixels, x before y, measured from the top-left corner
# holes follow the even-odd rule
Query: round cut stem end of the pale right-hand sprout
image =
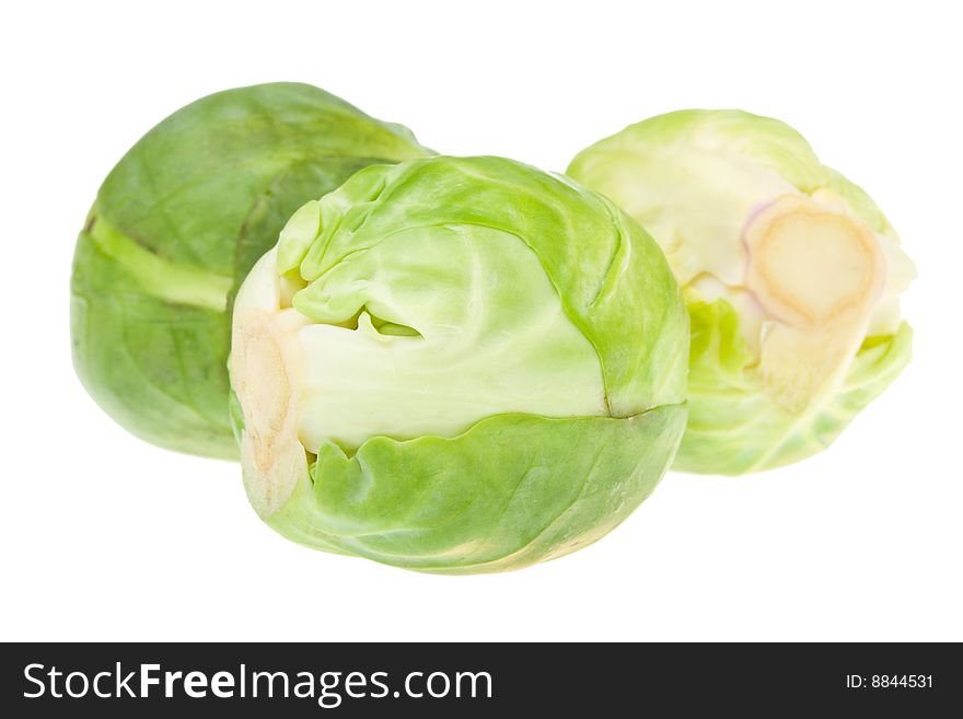
[(770, 318), (757, 371), (789, 411), (845, 376), (885, 285), (877, 236), (815, 198), (790, 195), (753, 217), (743, 235), (745, 286)]

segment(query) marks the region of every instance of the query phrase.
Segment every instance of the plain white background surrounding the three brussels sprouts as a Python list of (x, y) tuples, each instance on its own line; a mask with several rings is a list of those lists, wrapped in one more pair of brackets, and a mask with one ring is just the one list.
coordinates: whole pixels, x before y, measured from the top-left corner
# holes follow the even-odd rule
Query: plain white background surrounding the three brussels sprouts
[[(963, 54), (955, 3), (5, 3), (0, 639), (963, 640)], [(74, 237), (179, 106), (300, 80), (450, 154), (564, 170), (650, 115), (786, 119), (890, 216), (916, 357), (827, 452), (670, 474), (599, 544), (433, 577), (288, 543), (230, 463), (152, 448), (73, 375)]]

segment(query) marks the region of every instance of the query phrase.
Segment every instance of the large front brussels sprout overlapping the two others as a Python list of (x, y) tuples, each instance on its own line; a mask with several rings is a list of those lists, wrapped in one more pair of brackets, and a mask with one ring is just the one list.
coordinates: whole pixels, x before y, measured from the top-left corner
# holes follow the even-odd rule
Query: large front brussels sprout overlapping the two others
[(688, 322), (608, 200), (499, 158), (367, 167), (234, 305), (248, 498), (287, 537), (422, 571), (584, 546), (685, 424)]

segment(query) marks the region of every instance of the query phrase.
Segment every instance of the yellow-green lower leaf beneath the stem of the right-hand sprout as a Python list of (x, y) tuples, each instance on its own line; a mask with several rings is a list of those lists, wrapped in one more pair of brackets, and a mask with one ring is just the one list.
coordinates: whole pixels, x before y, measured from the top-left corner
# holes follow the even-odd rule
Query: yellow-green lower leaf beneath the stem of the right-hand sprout
[(753, 373), (739, 316), (724, 300), (694, 302), (689, 419), (674, 469), (736, 475), (790, 464), (828, 447), (909, 362), (913, 332), (863, 343), (839, 391), (811, 413), (790, 414)]

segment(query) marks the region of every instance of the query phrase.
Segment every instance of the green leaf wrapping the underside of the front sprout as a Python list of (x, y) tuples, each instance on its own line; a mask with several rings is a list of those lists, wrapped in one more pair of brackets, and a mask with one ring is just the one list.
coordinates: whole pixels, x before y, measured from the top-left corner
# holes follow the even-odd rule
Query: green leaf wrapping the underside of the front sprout
[(684, 406), (635, 417), (498, 415), (444, 439), (327, 443), (267, 523), (301, 544), (420, 571), (520, 569), (591, 544), (651, 494)]

